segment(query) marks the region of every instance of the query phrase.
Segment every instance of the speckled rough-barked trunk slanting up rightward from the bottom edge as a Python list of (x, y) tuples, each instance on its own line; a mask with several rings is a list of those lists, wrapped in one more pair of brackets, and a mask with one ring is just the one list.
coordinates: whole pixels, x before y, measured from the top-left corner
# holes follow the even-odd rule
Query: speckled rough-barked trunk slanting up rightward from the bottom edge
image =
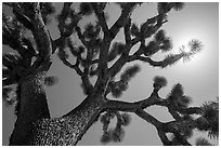
[(88, 96), (77, 108), (61, 118), (41, 119), (32, 124), (28, 145), (77, 145), (102, 111), (101, 95)]

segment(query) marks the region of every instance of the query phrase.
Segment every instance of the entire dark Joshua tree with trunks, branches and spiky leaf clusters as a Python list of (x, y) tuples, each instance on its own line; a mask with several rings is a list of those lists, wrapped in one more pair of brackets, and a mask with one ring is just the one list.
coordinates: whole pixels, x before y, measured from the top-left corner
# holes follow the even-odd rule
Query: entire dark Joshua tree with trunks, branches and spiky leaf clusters
[[(187, 138), (194, 129), (218, 137), (218, 100), (205, 103), (202, 107), (188, 107), (191, 98), (184, 95), (180, 83), (172, 88), (168, 97), (162, 98), (158, 91), (167, 84), (164, 77), (154, 78), (152, 94), (141, 100), (127, 103), (107, 98), (108, 94), (119, 97), (127, 90), (130, 79), (140, 70), (139, 65), (128, 67), (116, 80), (116, 75), (127, 63), (141, 60), (153, 67), (165, 68), (180, 59), (190, 59), (202, 50), (202, 43), (192, 40), (190, 52), (181, 49), (179, 54), (166, 55), (161, 60), (152, 58), (159, 51), (166, 54), (171, 50), (170, 38), (160, 28), (168, 22), (168, 12), (172, 9), (181, 10), (183, 3), (157, 3), (158, 14), (140, 26), (133, 24), (130, 16), (134, 8), (142, 3), (116, 3), (121, 13), (110, 27), (107, 26), (108, 16), (104, 11), (108, 3), (80, 3), (79, 10), (73, 9), (72, 4), (64, 3), (56, 17), (61, 36), (53, 40), (47, 29), (50, 16), (55, 12), (52, 3), (3, 3), (14, 14), (2, 15), (3, 44), (15, 51), (2, 56), (3, 99), (8, 104), (16, 103), (17, 119), (10, 145), (77, 145), (99, 119), (104, 131), (101, 142), (120, 142), (125, 134), (123, 127), (131, 120), (129, 113), (135, 113), (155, 126), (164, 145), (191, 145)], [(95, 22), (87, 24), (84, 28), (79, 26), (81, 18), (91, 14), (95, 14)], [(114, 42), (120, 29), (123, 30), (125, 42)], [(72, 35), (78, 37), (81, 45), (74, 44)], [(135, 44), (140, 46), (132, 53), (131, 49)], [(76, 58), (75, 64), (68, 60), (67, 50)], [(57, 54), (64, 65), (77, 72), (87, 94), (79, 106), (60, 118), (50, 118), (44, 91), (44, 85), (56, 82), (56, 78), (47, 76), (53, 54)], [(91, 82), (91, 78), (96, 78), (95, 83)], [(13, 91), (16, 98), (10, 95)], [(173, 121), (158, 121), (144, 110), (150, 106), (168, 108)], [(109, 129), (114, 118), (117, 119), (116, 127)], [(204, 144), (209, 143), (206, 139), (196, 143)]]

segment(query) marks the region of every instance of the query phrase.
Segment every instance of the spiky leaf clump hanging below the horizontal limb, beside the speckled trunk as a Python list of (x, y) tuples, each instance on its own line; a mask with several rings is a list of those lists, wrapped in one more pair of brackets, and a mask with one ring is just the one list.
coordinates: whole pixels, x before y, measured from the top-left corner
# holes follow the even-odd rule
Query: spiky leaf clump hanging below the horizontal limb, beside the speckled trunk
[[(114, 129), (109, 129), (108, 125), (110, 120), (117, 118), (117, 123)], [(130, 116), (128, 113), (110, 112), (107, 111), (101, 117), (101, 122), (103, 123), (103, 135), (101, 142), (107, 144), (109, 142), (121, 142), (125, 135), (123, 126), (127, 126), (130, 123)]]

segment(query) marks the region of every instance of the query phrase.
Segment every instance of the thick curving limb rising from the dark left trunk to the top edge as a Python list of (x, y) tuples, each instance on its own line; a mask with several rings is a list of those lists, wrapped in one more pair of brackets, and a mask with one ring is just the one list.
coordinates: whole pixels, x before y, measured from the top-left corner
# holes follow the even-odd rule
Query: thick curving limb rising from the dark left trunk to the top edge
[(38, 2), (18, 2), (11, 3), (10, 6), (13, 9), (16, 16), (21, 18), (21, 23), (23, 23), (26, 27), (27, 23), (29, 23), (29, 27), (27, 28), (29, 28), (34, 35), (39, 52), (38, 58), (32, 65), (34, 69), (43, 63), (49, 63), (52, 54), (52, 42), (41, 15), (40, 4)]

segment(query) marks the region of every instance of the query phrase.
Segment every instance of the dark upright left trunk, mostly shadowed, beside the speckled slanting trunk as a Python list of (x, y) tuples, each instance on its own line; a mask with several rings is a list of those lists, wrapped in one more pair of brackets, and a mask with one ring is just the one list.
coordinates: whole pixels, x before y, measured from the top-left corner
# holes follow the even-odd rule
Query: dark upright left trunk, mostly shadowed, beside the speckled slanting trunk
[(44, 71), (35, 72), (18, 84), (21, 93), (17, 94), (20, 102), (17, 120), (10, 137), (10, 145), (26, 145), (30, 123), (41, 118), (50, 118), (43, 89), (44, 75)]

